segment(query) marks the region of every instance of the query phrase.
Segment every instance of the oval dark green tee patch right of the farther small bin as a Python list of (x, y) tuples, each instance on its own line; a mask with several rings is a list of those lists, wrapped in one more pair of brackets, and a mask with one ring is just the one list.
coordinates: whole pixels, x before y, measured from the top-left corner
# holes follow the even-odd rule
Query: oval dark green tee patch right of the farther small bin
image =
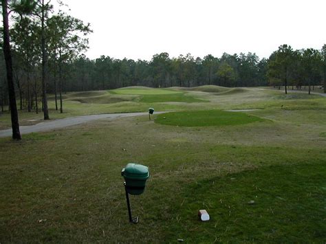
[(221, 110), (184, 111), (163, 113), (155, 120), (159, 124), (175, 126), (228, 126), (264, 121), (246, 113), (228, 112)]

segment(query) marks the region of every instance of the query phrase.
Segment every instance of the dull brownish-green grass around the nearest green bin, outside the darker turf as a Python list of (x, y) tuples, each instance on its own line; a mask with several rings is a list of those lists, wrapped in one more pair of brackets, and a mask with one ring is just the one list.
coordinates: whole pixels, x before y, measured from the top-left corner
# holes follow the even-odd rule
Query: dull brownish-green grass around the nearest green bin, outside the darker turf
[[(193, 206), (189, 186), (209, 189), (212, 179), (223, 182), (230, 174), (325, 159), (326, 141), (318, 133), (323, 124), (316, 117), (296, 111), (303, 113), (298, 131), (290, 123), (295, 115), (287, 120), (281, 111), (250, 113), (274, 116), (274, 122), (188, 128), (155, 124), (142, 116), (26, 135), (22, 142), (0, 139), (0, 241), (173, 242), (187, 235), (180, 225), (201, 225), (196, 212), (189, 211), (206, 208), (198, 199)], [(127, 222), (120, 170), (128, 162), (147, 165), (151, 172), (144, 194), (131, 197), (138, 225)], [(228, 216), (228, 208), (219, 211)], [(218, 223), (217, 234), (227, 228), (225, 223)], [(215, 224), (208, 223), (207, 230)], [(202, 239), (202, 228), (193, 230), (192, 241), (211, 241), (210, 235)]]

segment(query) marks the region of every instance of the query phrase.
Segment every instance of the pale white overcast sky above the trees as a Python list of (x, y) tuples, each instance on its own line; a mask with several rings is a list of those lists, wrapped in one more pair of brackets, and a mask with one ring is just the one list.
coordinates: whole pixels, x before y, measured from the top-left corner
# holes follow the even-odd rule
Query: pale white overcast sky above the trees
[[(64, 0), (70, 15), (91, 23), (89, 58), (151, 60), (190, 52), (255, 52), (281, 44), (320, 49), (326, 43), (326, 0)], [(66, 9), (67, 10), (67, 9)]]

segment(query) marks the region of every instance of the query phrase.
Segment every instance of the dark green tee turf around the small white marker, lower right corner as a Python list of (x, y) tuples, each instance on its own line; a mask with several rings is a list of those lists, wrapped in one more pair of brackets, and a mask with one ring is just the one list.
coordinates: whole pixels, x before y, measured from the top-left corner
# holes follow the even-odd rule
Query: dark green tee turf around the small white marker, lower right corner
[[(175, 224), (174, 233), (183, 232), (184, 239), (196, 243), (213, 243), (216, 238), (222, 243), (260, 243), (267, 239), (295, 243), (302, 241), (302, 230), (309, 233), (307, 239), (323, 239), (326, 225), (319, 216), (325, 213), (325, 199), (321, 197), (325, 174), (323, 164), (298, 164), (196, 182), (185, 190), (184, 206), (177, 209), (180, 219), (189, 225)], [(203, 203), (211, 219), (199, 225), (193, 213)], [(199, 235), (204, 232), (209, 234)]]

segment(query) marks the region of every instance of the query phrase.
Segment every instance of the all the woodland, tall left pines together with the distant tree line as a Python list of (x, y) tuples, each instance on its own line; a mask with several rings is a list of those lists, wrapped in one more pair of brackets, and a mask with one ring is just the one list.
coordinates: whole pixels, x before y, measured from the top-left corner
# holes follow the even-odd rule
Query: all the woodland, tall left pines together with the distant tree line
[[(51, 1), (21, 3), (12, 6), (10, 23), (12, 76), (19, 109), (36, 113), (44, 110), (47, 93), (52, 93), (56, 109), (62, 112), (63, 92), (136, 85), (300, 88), (325, 83), (326, 45), (298, 50), (281, 45), (269, 58), (259, 58), (251, 52), (224, 53), (220, 57), (211, 54), (171, 57), (162, 52), (154, 54), (151, 60), (120, 60), (110, 56), (91, 60), (83, 54), (89, 48), (89, 24), (64, 12), (55, 13)], [(1, 43), (2, 40), (0, 36)], [(8, 104), (8, 81), (2, 49), (0, 53), (0, 104), (4, 111)]]

